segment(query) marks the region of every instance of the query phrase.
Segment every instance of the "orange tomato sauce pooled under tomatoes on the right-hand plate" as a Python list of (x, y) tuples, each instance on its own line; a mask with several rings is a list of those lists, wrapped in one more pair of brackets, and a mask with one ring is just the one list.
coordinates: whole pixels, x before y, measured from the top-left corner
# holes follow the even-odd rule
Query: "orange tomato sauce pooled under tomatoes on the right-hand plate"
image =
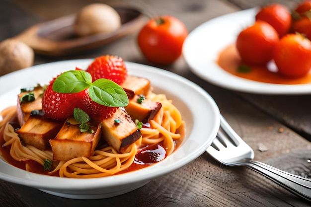
[[(307, 75), (299, 78), (290, 78), (282, 76), (277, 73), (277, 69), (274, 67), (265, 66), (251, 66), (250, 71), (241, 72), (238, 70), (241, 59), (235, 48), (235, 45), (230, 45), (226, 47), (219, 54), (217, 64), (227, 72), (238, 77), (246, 78), (249, 80), (254, 80), (258, 82), (265, 83), (275, 83), (275, 84), (308, 84), (311, 83), (311, 72)], [(271, 66), (271, 65), (270, 65)]]

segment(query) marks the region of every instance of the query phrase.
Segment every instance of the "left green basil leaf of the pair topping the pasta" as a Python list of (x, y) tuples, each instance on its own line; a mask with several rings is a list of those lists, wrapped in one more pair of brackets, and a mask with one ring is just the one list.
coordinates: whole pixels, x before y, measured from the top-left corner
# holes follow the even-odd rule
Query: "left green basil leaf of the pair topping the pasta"
[(59, 75), (53, 83), (58, 93), (78, 93), (90, 86), (92, 76), (84, 70), (69, 70)]

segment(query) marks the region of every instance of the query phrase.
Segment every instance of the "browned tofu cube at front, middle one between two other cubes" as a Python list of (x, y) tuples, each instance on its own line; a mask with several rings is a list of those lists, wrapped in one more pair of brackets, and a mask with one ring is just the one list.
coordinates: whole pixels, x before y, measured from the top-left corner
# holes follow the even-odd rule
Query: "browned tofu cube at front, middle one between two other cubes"
[(79, 124), (65, 122), (54, 139), (50, 140), (54, 160), (67, 161), (76, 157), (90, 157), (101, 138), (100, 123), (90, 122), (91, 132), (80, 132)]

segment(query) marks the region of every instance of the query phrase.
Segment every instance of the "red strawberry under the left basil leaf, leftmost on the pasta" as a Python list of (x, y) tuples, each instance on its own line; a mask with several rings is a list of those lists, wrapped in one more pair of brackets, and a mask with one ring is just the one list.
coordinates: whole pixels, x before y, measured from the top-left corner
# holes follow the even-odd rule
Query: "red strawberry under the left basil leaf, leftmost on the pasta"
[(64, 121), (74, 114), (74, 108), (82, 106), (82, 99), (88, 94), (86, 89), (78, 93), (55, 92), (52, 89), (55, 79), (50, 81), (44, 91), (42, 109), (47, 118)]

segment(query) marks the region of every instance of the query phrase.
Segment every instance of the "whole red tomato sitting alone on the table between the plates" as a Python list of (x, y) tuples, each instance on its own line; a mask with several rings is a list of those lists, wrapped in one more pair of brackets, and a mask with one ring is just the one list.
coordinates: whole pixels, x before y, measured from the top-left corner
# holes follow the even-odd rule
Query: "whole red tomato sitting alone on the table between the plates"
[(138, 45), (152, 63), (168, 65), (178, 59), (188, 35), (185, 25), (169, 15), (151, 19), (138, 34)]

